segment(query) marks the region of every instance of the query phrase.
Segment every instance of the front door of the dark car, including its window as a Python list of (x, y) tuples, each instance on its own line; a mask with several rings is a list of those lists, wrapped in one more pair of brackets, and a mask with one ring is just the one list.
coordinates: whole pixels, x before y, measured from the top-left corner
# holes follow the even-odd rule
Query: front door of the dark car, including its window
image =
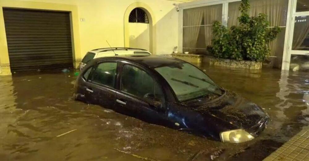
[(121, 68), (116, 92), (116, 111), (154, 124), (167, 120), (163, 90), (155, 79), (132, 64)]

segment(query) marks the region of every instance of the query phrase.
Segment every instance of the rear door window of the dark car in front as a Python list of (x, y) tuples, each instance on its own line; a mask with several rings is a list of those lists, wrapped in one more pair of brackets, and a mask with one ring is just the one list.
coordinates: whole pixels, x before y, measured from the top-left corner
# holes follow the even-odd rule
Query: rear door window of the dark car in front
[(107, 85), (114, 88), (116, 79), (116, 62), (104, 62), (98, 64), (97, 68), (93, 72), (92, 82), (99, 83), (101, 85)]

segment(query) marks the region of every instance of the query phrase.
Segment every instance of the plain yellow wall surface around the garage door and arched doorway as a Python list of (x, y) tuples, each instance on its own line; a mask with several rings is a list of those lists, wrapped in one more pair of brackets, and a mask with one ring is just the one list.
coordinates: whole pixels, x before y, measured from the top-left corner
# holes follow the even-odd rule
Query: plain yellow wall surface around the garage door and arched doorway
[[(0, 0), (0, 66), (9, 65), (2, 7), (70, 11), (74, 36), (73, 57), (76, 60), (75, 64), (78, 64), (78, 60), (87, 51), (108, 47), (106, 40), (115, 47), (125, 46), (125, 23), (128, 20), (124, 20), (124, 15), (127, 8), (133, 3), (136, 6), (149, 6), (146, 8), (152, 14), (152, 27), (155, 30), (153, 31), (154, 36), (151, 37), (154, 44), (154, 54), (171, 53), (173, 47), (178, 44), (178, 12), (176, 6), (173, 5), (175, 1)], [(8, 72), (7, 70), (7, 68), (2, 68), (0, 74), (4, 75)]]

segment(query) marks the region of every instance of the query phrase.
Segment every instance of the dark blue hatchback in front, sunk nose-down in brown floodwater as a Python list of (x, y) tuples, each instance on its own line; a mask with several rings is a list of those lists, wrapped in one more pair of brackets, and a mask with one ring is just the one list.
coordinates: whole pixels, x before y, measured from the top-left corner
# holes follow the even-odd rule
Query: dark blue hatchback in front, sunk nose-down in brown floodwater
[(219, 87), (194, 65), (168, 56), (94, 59), (77, 77), (73, 96), (222, 142), (252, 140), (269, 120), (258, 105)]

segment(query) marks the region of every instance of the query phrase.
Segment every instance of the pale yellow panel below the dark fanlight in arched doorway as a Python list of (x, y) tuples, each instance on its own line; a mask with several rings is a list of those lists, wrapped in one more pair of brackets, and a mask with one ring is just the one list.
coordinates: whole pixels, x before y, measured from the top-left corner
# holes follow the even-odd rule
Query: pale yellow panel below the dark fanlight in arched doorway
[(148, 23), (129, 23), (129, 47), (150, 50)]

